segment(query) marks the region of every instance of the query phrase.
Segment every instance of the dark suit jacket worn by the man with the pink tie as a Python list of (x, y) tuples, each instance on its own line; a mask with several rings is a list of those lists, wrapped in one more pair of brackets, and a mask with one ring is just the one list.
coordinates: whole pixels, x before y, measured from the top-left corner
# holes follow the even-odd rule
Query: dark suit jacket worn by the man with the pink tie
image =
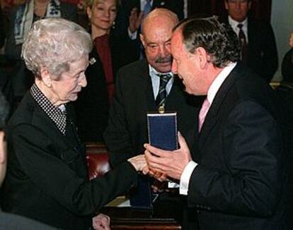
[(286, 229), (278, 103), (241, 63), (219, 88), (192, 151), (188, 206), (200, 229)]

